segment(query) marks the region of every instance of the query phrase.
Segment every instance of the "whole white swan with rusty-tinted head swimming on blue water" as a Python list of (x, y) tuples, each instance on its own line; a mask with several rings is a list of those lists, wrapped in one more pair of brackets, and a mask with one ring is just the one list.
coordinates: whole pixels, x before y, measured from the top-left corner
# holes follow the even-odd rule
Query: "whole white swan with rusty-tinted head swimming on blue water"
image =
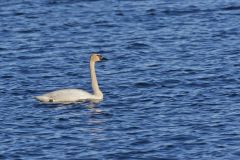
[(81, 89), (61, 89), (40, 96), (36, 96), (35, 98), (40, 102), (50, 103), (74, 103), (86, 100), (100, 102), (103, 99), (103, 93), (98, 86), (95, 72), (95, 63), (104, 59), (105, 58), (103, 58), (103, 56), (98, 53), (92, 53), (90, 57), (90, 74), (92, 80), (93, 94)]

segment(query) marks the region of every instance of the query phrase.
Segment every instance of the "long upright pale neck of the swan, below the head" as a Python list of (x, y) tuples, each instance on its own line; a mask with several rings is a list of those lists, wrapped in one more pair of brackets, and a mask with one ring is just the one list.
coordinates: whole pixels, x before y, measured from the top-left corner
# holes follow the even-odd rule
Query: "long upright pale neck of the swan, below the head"
[(103, 98), (103, 94), (101, 90), (99, 89), (98, 86), (98, 81), (97, 81), (97, 76), (96, 76), (96, 71), (95, 71), (95, 62), (90, 61), (90, 72), (91, 72), (91, 79), (92, 79), (92, 89), (93, 89), (93, 94), (99, 99)]

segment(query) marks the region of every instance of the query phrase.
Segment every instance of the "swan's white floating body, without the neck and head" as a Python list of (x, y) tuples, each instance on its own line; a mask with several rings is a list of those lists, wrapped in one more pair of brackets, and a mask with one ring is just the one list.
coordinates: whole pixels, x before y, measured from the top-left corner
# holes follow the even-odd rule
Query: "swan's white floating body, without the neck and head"
[(62, 89), (36, 97), (42, 102), (78, 102), (94, 99), (94, 96), (81, 89)]

